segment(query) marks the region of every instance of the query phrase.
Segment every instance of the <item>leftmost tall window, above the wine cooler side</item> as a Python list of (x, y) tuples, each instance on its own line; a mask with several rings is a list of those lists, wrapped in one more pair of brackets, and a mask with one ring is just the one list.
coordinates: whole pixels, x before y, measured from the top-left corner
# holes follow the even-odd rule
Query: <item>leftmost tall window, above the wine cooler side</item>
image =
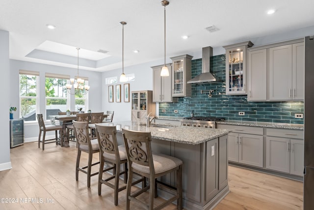
[(20, 70), (20, 118), (35, 121), (38, 107), (39, 72)]

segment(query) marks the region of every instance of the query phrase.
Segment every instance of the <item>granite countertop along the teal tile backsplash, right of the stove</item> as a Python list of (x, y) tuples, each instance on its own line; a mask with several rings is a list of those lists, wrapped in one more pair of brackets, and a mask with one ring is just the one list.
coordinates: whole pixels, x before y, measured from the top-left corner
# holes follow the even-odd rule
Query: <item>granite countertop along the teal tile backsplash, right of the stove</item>
[(277, 123), (277, 122), (255, 122), (255, 121), (240, 121), (240, 120), (224, 120), (217, 121), (217, 124), (230, 124), (230, 125), (245, 125), (256, 127), (269, 127), (269, 128), (285, 128), (303, 130), (303, 124), (290, 124), (290, 123)]

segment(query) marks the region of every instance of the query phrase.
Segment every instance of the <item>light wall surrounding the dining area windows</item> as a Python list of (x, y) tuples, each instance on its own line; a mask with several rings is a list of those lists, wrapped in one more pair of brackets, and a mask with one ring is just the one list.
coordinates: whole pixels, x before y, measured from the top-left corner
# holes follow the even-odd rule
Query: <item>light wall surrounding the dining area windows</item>
[[(55, 74), (65, 74), (70, 75), (70, 77), (74, 77), (77, 75), (76, 68), (68, 68), (68, 67), (61, 67), (55, 65), (47, 65), (41, 63), (34, 63), (34, 62), (26, 62), (20, 60), (10, 60), (10, 90), (11, 90), (11, 97), (10, 97), (10, 104), (12, 106), (16, 106), (19, 108), (19, 70), (30, 70), (30, 71), (39, 71), (39, 106), (40, 106), (40, 113), (45, 114), (45, 106), (46, 106), (46, 95), (45, 95), (45, 73), (55, 73)], [(82, 77), (88, 77), (88, 84), (90, 86), (89, 89), (89, 96), (88, 96), (88, 109), (92, 110), (93, 112), (102, 112), (102, 102), (100, 98), (102, 98), (102, 90), (101, 90), (101, 75), (102, 73), (96, 71), (86, 71), (86, 70), (79, 70), (79, 75)], [(74, 95), (71, 95), (71, 110), (75, 110), (75, 99)], [(17, 110), (14, 113), (14, 118), (19, 118)], [(39, 134), (39, 127), (38, 123), (28, 123), (25, 122), (25, 138), (33, 138), (33, 140), (38, 138)], [(48, 135), (50, 135), (48, 133)]]

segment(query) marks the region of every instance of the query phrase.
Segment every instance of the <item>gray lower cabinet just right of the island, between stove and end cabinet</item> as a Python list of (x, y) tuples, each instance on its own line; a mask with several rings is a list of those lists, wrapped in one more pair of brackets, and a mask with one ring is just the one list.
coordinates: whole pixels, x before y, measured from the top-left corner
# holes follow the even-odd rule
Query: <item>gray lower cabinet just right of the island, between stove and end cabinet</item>
[(263, 128), (218, 124), (228, 134), (228, 160), (263, 167)]

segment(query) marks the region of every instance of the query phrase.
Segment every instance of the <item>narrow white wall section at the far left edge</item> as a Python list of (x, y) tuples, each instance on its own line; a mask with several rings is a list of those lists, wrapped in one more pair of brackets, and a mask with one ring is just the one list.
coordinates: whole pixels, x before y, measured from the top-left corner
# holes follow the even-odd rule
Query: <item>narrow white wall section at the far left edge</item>
[(0, 71), (2, 94), (0, 103), (0, 171), (11, 168), (10, 160), (10, 62), (9, 62), (9, 32), (0, 30)]

